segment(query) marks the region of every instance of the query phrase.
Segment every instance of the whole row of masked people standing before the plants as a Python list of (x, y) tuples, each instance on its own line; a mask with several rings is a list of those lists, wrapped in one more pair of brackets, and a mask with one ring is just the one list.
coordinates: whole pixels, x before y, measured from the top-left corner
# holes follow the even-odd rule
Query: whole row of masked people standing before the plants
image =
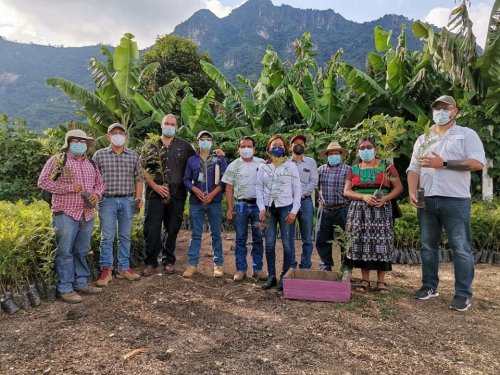
[[(436, 254), (441, 226), (444, 226), (457, 254), (454, 257), (456, 295), (451, 307), (464, 311), (470, 306), (473, 278), (470, 171), (482, 168), (484, 150), (474, 131), (455, 124), (458, 110), (453, 98), (438, 98), (432, 110), (436, 123), (432, 132), (437, 141), (431, 153), (423, 155), (419, 138), (408, 168), (410, 202), (418, 207), (422, 232), (423, 286), (415, 298), (438, 295)], [(147, 277), (155, 272), (160, 252), (164, 271), (175, 273), (176, 240), (188, 192), (191, 241), (183, 277), (198, 273), (205, 217), (212, 238), (213, 276), (223, 276), (221, 231), (225, 195), (226, 216), (234, 220), (236, 231), (233, 280), (240, 282), (247, 276), (250, 225), (252, 276), (265, 281), (263, 289), (282, 290), (283, 277), (290, 268), (312, 267), (316, 197), (315, 237), (321, 269), (332, 270), (332, 240), (334, 228), (338, 226), (349, 238), (348, 246), (343, 249), (344, 265), (361, 269), (362, 280), (357, 290), (367, 291), (371, 286), (370, 271), (376, 271), (376, 289), (381, 293), (388, 291), (385, 274), (391, 270), (394, 246), (392, 201), (403, 187), (394, 165), (377, 157), (374, 139), (359, 140), (352, 166), (345, 163), (348, 151), (338, 142), (331, 142), (320, 152), (325, 163), (318, 168), (313, 158), (304, 155), (307, 149), (304, 135), (297, 135), (289, 142), (280, 135), (270, 137), (265, 160), (254, 155), (255, 141), (243, 137), (237, 144), (239, 158), (228, 165), (224, 152), (213, 147), (209, 131), (197, 135), (198, 151), (176, 136), (174, 115), (163, 118), (161, 131), (161, 137), (147, 142), (139, 155), (125, 146), (125, 127), (112, 124), (107, 133), (110, 146), (89, 159), (86, 153), (94, 140), (81, 130), (71, 130), (66, 134), (63, 153), (53, 156), (45, 165), (38, 185), (53, 194), (57, 288), (64, 301), (76, 303), (81, 300), (79, 293), (100, 293), (100, 287), (112, 280), (115, 266), (118, 278), (133, 281), (140, 277), (130, 268), (128, 258), (133, 215), (143, 205), (143, 196), (146, 259), (142, 275)], [(417, 199), (417, 191), (422, 187), (425, 202)], [(96, 205), (101, 229), (98, 287), (89, 283), (86, 261)], [(301, 256), (297, 260), (295, 223), (302, 240)], [(275, 265), (278, 225), (283, 245), (279, 277)], [(264, 254), (267, 273), (263, 270)]]

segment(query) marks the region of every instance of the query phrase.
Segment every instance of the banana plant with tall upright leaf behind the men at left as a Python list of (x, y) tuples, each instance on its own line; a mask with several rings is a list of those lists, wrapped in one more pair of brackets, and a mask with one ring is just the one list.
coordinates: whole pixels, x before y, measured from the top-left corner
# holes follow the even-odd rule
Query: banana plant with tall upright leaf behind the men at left
[(58, 87), (81, 108), (89, 125), (101, 136), (109, 124), (120, 122), (132, 139), (152, 131), (165, 113), (175, 105), (176, 95), (186, 87), (178, 79), (163, 86), (149, 101), (139, 92), (141, 78), (158, 68), (158, 63), (140, 69), (140, 56), (134, 35), (126, 33), (114, 53), (102, 47), (106, 63), (92, 57), (89, 60), (95, 90), (88, 90), (63, 78), (49, 78), (49, 86)]

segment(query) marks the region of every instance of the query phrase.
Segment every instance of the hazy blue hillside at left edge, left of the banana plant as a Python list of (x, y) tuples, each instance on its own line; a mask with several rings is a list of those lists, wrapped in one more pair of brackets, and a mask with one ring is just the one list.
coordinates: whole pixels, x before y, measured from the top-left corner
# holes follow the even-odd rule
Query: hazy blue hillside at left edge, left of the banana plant
[(0, 112), (25, 118), (35, 130), (77, 118), (75, 105), (47, 86), (45, 79), (62, 77), (91, 87), (87, 63), (100, 55), (99, 48), (40, 46), (0, 38)]

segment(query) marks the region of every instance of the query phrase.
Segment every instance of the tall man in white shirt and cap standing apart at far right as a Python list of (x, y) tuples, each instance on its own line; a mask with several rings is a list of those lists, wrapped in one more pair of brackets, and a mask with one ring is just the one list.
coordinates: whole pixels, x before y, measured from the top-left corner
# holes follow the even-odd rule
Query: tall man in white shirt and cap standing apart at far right
[[(457, 125), (455, 99), (448, 95), (431, 105), (434, 125), (428, 135), (415, 142), (408, 167), (410, 203), (418, 209), (422, 247), (422, 287), (415, 298), (439, 296), (439, 243), (444, 227), (453, 250), (455, 297), (450, 308), (466, 311), (471, 305), (474, 258), (471, 249), (470, 209), (471, 171), (483, 169), (483, 144), (477, 133)], [(418, 198), (423, 189), (424, 202)]]

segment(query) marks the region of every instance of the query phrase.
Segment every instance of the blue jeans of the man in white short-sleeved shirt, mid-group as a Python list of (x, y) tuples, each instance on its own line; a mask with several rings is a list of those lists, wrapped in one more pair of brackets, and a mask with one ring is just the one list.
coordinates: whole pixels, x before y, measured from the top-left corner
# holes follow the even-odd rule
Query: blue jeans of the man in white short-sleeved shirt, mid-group
[[(241, 205), (241, 206), (240, 206)], [(247, 238), (248, 223), (252, 228), (252, 270), (253, 272), (262, 271), (262, 258), (264, 255), (264, 246), (262, 243), (262, 232), (255, 226), (259, 220), (259, 208), (255, 204), (239, 202), (236, 205), (235, 212), (236, 224), (236, 271), (247, 271)]]

